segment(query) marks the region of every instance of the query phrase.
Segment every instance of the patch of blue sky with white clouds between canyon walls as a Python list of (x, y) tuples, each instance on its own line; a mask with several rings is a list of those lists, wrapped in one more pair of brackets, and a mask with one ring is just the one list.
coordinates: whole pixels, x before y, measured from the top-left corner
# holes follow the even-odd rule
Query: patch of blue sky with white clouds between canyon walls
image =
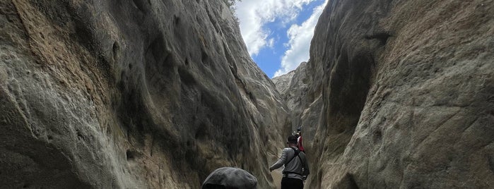
[(240, 32), (252, 59), (269, 78), (309, 60), (310, 40), (328, 0), (237, 1)]

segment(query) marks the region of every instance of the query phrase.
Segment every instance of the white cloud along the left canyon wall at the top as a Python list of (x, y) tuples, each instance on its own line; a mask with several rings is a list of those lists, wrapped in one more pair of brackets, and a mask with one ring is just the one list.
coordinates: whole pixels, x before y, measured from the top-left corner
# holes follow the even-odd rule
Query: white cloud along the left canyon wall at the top
[(240, 31), (251, 56), (256, 56), (265, 47), (273, 47), (275, 39), (269, 38), (269, 30), (263, 25), (280, 20), (290, 23), (297, 18), (302, 6), (316, 0), (243, 0), (237, 2), (237, 17)]

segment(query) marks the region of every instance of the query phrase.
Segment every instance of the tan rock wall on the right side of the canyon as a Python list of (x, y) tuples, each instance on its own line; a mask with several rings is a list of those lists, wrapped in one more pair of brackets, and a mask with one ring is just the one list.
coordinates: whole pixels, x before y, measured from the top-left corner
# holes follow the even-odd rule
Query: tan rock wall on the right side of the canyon
[(320, 113), (309, 188), (492, 187), (493, 12), (493, 1), (329, 1), (305, 68), (304, 109), (322, 97), (304, 110)]

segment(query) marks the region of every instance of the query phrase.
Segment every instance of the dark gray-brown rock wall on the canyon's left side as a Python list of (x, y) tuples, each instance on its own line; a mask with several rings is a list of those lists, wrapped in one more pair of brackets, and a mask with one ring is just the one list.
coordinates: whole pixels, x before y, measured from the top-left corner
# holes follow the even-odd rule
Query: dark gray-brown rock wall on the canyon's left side
[(273, 188), (288, 109), (224, 1), (0, 1), (0, 185)]

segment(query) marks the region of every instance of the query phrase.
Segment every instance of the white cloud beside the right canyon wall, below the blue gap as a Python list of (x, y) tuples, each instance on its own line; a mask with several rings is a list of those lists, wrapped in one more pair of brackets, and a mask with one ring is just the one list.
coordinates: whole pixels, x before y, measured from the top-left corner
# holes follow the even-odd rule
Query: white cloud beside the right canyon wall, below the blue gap
[(274, 77), (293, 71), (302, 61), (309, 60), (310, 41), (314, 35), (314, 28), (327, 2), (328, 0), (314, 8), (312, 16), (305, 20), (302, 25), (294, 24), (288, 29), (289, 49), (285, 51), (285, 55), (281, 58), (281, 68), (274, 73)]

